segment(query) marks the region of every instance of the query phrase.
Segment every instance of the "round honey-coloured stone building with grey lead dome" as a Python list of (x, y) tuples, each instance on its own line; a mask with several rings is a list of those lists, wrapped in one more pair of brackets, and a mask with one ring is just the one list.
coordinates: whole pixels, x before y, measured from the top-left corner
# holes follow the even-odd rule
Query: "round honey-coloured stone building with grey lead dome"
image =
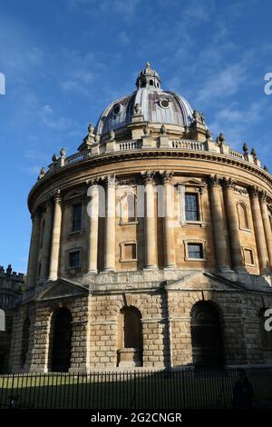
[(147, 64), (28, 206), (13, 372), (272, 362), (272, 177)]

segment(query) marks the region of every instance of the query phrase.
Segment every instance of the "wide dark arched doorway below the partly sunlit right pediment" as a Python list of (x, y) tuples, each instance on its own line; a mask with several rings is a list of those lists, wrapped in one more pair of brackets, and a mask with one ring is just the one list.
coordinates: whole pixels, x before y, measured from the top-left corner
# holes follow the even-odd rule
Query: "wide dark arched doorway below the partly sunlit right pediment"
[(192, 359), (195, 366), (220, 366), (224, 362), (219, 312), (209, 302), (191, 310)]

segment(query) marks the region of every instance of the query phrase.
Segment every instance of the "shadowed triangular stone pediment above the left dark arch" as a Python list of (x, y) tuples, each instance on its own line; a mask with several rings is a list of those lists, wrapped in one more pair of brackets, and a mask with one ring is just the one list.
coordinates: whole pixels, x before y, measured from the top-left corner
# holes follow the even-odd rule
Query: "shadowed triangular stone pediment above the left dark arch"
[(68, 298), (71, 296), (80, 296), (84, 294), (87, 295), (88, 293), (88, 289), (83, 287), (83, 285), (67, 279), (59, 278), (47, 289), (45, 289), (43, 293), (40, 293), (40, 295), (37, 297), (37, 301), (47, 301), (56, 298)]

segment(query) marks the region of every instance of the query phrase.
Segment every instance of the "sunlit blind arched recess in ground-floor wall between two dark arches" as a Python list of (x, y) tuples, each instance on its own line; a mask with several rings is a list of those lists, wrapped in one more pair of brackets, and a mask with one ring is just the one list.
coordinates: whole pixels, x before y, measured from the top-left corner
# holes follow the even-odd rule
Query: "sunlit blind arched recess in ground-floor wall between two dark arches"
[(119, 313), (117, 365), (142, 365), (141, 313), (136, 307), (123, 307)]

